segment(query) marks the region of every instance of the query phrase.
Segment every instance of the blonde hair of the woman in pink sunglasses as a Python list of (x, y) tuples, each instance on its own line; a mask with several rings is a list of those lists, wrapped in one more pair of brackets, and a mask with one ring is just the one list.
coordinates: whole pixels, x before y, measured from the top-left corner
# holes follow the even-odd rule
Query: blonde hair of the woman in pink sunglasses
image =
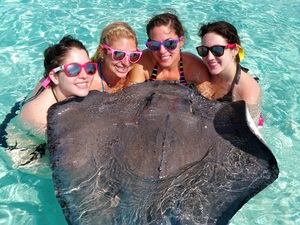
[(136, 34), (128, 23), (111, 23), (102, 30), (98, 49), (92, 57), (92, 61), (98, 62), (102, 60), (105, 49), (101, 47), (101, 44), (109, 46), (112, 41), (117, 41), (120, 38), (132, 38), (135, 41), (136, 46), (138, 45)]

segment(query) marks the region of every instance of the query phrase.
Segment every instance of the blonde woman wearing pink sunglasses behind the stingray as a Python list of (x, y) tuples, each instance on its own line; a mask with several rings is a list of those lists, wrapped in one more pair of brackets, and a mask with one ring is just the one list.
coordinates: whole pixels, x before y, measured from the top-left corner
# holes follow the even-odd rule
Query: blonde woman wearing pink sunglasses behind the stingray
[(128, 72), (142, 56), (137, 45), (136, 34), (127, 23), (106, 26), (92, 57), (98, 63), (99, 76), (95, 76), (91, 90), (110, 93), (122, 90)]

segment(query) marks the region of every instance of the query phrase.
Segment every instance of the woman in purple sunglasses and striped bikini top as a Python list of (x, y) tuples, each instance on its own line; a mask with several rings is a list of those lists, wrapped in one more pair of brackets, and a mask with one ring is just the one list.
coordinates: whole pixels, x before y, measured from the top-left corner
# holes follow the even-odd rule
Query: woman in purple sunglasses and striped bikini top
[(196, 55), (181, 52), (185, 30), (175, 14), (154, 16), (146, 27), (148, 49), (128, 74), (126, 86), (146, 80), (175, 80), (198, 87), (209, 80), (208, 71)]

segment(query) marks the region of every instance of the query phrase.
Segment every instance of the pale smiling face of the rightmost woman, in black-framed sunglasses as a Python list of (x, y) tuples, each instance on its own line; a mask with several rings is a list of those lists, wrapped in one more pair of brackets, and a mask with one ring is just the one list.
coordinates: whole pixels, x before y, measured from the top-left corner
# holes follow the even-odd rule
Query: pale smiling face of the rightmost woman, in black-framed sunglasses
[[(215, 45), (225, 46), (227, 44), (227, 41), (216, 33), (207, 33), (202, 38), (202, 45), (205, 47), (212, 47)], [(235, 65), (236, 54), (236, 49), (224, 49), (224, 54), (220, 57), (214, 56), (211, 51), (208, 51), (208, 55), (202, 57), (202, 60), (212, 75), (218, 75), (232, 64)]]

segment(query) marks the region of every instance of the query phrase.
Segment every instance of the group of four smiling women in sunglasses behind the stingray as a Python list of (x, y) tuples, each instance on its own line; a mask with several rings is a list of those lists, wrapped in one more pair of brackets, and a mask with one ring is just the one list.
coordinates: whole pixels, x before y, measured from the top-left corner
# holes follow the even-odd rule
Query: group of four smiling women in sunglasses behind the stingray
[(46, 49), (45, 78), (19, 114), (23, 126), (44, 135), (52, 104), (71, 96), (86, 96), (89, 90), (112, 93), (146, 80), (175, 80), (211, 100), (242, 99), (254, 121), (259, 120), (260, 87), (239, 64), (244, 53), (234, 26), (219, 21), (200, 28), (202, 45), (196, 49), (203, 61), (181, 51), (185, 31), (175, 14), (154, 16), (146, 30), (149, 39), (142, 52), (127, 23), (108, 25), (92, 62), (83, 44), (71, 36)]

